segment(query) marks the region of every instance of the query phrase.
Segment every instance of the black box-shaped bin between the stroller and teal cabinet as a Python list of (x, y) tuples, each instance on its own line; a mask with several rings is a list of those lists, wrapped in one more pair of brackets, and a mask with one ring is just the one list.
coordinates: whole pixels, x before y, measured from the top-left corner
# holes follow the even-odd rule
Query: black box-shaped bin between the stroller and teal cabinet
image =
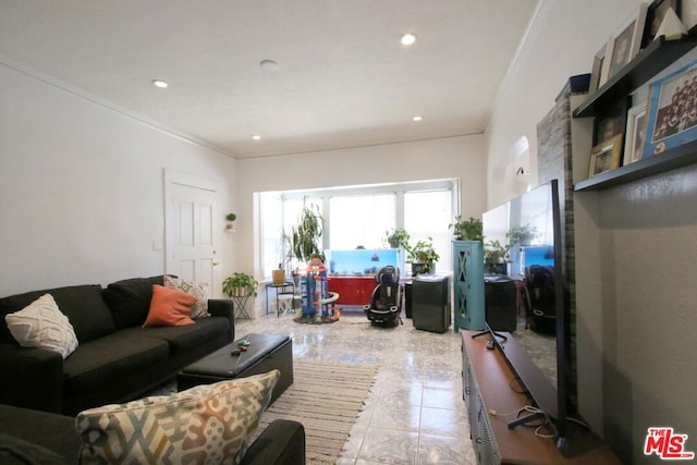
[(450, 327), (450, 280), (448, 277), (418, 276), (412, 284), (414, 328), (445, 332)]

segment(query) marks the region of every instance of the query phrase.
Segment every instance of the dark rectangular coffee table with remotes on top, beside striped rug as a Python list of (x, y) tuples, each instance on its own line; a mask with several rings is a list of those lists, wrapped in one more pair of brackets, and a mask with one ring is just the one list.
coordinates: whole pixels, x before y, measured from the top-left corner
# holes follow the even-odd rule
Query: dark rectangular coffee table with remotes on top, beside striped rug
[[(241, 340), (249, 342), (247, 351), (231, 355)], [(252, 333), (185, 367), (176, 375), (176, 389), (183, 391), (272, 369), (281, 371), (281, 377), (273, 389), (271, 403), (293, 383), (293, 341), (288, 335)]]

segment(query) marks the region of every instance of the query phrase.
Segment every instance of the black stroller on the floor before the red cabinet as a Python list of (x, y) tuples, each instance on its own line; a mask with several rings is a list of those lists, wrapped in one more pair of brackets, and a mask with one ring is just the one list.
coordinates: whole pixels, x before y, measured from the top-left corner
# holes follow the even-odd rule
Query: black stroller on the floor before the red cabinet
[(374, 326), (395, 327), (402, 322), (402, 292), (400, 269), (391, 265), (382, 267), (375, 276), (378, 285), (372, 290), (370, 304), (363, 309)]

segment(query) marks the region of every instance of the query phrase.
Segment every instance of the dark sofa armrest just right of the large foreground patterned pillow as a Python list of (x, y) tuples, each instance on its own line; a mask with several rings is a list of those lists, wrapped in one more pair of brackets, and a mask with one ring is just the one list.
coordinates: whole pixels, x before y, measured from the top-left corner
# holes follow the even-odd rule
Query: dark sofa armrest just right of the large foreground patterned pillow
[(244, 465), (305, 465), (305, 428), (290, 419), (276, 419), (242, 457)]

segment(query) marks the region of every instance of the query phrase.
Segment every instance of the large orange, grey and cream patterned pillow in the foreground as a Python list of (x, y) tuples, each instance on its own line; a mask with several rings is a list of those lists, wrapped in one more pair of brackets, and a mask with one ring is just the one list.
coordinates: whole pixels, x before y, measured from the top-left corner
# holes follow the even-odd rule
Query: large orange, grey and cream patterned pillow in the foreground
[(77, 415), (81, 464), (240, 463), (279, 370)]

